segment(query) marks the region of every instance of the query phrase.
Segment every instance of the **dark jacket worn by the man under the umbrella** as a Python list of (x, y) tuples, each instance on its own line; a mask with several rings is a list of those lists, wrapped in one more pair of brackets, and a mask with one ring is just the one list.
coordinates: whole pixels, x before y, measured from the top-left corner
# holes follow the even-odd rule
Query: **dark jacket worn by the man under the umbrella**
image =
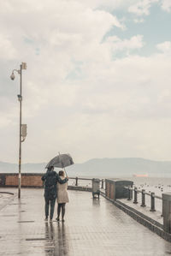
[(44, 198), (50, 200), (56, 199), (56, 183), (59, 182), (63, 184), (68, 182), (68, 178), (62, 180), (54, 170), (47, 170), (47, 172), (44, 174), (44, 176), (42, 176), (41, 179), (44, 182)]

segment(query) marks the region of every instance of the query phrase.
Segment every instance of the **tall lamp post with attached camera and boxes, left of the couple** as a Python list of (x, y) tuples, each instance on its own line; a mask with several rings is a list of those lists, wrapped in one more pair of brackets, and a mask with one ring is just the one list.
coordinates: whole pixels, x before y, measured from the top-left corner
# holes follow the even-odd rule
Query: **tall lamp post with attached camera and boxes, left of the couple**
[(21, 142), (26, 139), (27, 136), (27, 125), (21, 124), (21, 114), (22, 114), (22, 69), (27, 69), (27, 63), (21, 63), (21, 68), (19, 70), (14, 69), (10, 75), (11, 80), (15, 80), (14, 72), (20, 74), (20, 94), (18, 94), (18, 100), (20, 102), (20, 140), (19, 140), (19, 178), (18, 178), (18, 198), (21, 198)]

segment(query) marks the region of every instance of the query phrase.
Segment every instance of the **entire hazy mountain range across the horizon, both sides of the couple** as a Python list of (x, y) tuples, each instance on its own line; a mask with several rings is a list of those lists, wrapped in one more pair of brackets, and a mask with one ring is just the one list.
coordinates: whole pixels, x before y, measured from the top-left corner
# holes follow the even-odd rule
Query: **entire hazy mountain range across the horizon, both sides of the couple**
[[(46, 163), (22, 164), (22, 173), (44, 173)], [(59, 169), (56, 169), (56, 171)], [(68, 176), (148, 176), (171, 177), (171, 161), (151, 161), (144, 158), (94, 158), (66, 168)], [(18, 172), (18, 164), (0, 162), (0, 172)]]

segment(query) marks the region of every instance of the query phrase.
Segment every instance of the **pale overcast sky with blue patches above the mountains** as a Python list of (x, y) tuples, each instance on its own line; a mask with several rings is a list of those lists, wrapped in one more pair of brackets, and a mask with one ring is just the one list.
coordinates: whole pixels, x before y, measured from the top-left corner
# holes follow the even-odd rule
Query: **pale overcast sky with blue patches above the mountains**
[(171, 160), (170, 0), (0, 0), (0, 161)]

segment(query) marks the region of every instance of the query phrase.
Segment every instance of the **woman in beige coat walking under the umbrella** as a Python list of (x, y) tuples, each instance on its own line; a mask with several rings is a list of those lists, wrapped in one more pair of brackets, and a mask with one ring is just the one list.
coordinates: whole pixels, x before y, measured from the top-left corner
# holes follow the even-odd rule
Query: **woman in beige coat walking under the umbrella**
[[(59, 171), (59, 176), (62, 180), (65, 179), (65, 173), (63, 170)], [(62, 222), (64, 222), (64, 216), (65, 216), (65, 205), (66, 203), (68, 203), (68, 182), (64, 183), (64, 184), (60, 184), (59, 182), (57, 182), (57, 217), (56, 220), (59, 221), (60, 220), (60, 213), (62, 210)]]

